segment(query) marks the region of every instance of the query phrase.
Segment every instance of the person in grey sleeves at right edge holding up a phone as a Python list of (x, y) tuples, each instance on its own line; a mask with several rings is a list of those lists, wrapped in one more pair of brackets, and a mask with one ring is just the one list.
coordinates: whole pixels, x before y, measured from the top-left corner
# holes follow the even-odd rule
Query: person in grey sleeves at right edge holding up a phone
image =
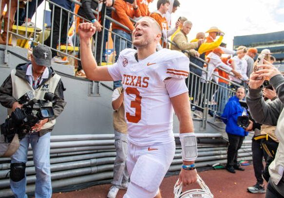
[[(284, 77), (280, 71), (265, 61), (266, 65), (257, 66), (258, 70), (250, 75), (248, 104), (252, 117), (259, 123), (276, 126), (276, 136), (279, 146), (274, 161), (269, 165), (270, 179), (267, 185), (266, 198), (284, 197)], [(261, 69), (262, 68), (262, 69)], [(262, 90), (265, 78), (276, 90), (278, 98), (265, 103)], [(260, 79), (262, 80), (256, 80)]]

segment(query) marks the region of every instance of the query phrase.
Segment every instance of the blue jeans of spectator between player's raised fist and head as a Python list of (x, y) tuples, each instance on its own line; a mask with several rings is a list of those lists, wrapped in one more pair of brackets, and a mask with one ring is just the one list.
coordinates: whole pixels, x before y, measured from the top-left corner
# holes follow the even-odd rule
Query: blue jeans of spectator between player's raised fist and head
[[(114, 50), (116, 52), (116, 56), (115, 56), (115, 62), (116, 62), (117, 59), (118, 59), (120, 51), (122, 51), (123, 49), (132, 47), (131, 42), (127, 41), (127, 40), (131, 41), (131, 34), (126, 33), (122, 30), (118, 30), (118, 29), (114, 29), (113, 32), (119, 35), (119, 36), (117, 36), (115, 34), (112, 34), (112, 38), (113, 38), (113, 41), (114, 41)], [(115, 38), (115, 40), (114, 40), (114, 38)], [(125, 38), (127, 40), (125, 40), (123, 38)], [(117, 87), (120, 87), (120, 86), (122, 86), (121, 81), (114, 81), (114, 89), (117, 88)]]

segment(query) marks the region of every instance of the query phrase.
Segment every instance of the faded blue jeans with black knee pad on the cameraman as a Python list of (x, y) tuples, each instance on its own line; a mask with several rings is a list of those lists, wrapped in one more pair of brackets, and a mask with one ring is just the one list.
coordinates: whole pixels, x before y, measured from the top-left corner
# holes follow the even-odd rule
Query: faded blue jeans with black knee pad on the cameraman
[[(29, 144), (33, 149), (33, 158), (36, 168), (36, 198), (51, 198), (51, 173), (50, 173), (50, 132), (38, 136), (38, 133), (27, 134), (21, 141), (19, 149), (12, 155), (11, 163), (27, 162)], [(10, 179), (11, 190), (16, 198), (27, 198), (26, 176), (20, 181)]]

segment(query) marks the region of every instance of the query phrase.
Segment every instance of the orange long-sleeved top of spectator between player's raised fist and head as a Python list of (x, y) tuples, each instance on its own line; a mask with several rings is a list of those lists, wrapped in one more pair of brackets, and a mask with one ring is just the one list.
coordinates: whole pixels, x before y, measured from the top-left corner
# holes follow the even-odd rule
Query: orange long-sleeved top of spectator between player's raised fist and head
[[(112, 11), (112, 18), (119, 23), (128, 27), (131, 31), (134, 30), (133, 22), (129, 19), (129, 17), (133, 18), (141, 16), (141, 12), (138, 9), (134, 10), (132, 5), (124, 0), (115, 0), (114, 1), (114, 8), (116, 12)], [(125, 30), (124, 28), (120, 27), (116, 23), (113, 23), (113, 30), (118, 29), (124, 32), (130, 33), (129, 31)]]

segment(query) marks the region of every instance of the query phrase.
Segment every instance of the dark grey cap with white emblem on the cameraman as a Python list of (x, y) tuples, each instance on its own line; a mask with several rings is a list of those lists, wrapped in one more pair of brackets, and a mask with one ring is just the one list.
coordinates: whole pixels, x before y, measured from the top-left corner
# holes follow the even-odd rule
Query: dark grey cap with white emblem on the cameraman
[(33, 49), (33, 56), (39, 66), (51, 66), (52, 52), (50, 47), (38, 45)]

